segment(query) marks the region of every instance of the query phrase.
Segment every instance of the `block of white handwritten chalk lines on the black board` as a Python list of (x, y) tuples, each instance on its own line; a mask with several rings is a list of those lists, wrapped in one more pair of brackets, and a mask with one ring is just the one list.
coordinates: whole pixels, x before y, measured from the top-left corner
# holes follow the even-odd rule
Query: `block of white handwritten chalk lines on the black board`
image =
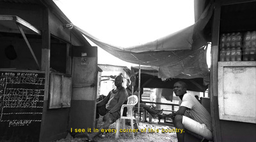
[(0, 122), (9, 127), (41, 122), (44, 83), (44, 73), (0, 72)]

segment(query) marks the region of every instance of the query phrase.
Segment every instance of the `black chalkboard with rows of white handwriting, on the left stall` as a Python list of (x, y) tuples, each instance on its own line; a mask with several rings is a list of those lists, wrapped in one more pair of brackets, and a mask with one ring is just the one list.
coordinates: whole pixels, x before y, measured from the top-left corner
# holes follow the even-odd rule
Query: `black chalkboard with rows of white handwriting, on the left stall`
[(0, 141), (38, 141), (44, 73), (0, 71)]

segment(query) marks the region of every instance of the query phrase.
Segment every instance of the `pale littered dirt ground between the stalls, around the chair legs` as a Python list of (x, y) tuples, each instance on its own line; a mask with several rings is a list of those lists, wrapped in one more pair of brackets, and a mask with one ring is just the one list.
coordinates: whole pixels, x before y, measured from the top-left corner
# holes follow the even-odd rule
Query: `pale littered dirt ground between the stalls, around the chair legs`
[[(102, 118), (100, 118), (102, 120)], [(108, 132), (102, 134), (100, 137), (95, 137), (94, 140), (96, 141), (106, 141), (106, 142), (111, 142), (111, 141), (118, 141), (118, 142), (134, 142), (134, 141), (141, 141), (141, 142), (154, 142), (154, 141), (168, 141), (168, 142), (177, 142), (177, 136), (176, 132), (173, 132), (173, 129), (175, 127), (172, 127), (170, 125), (162, 125), (162, 124), (157, 124), (158, 120), (157, 119), (152, 119), (152, 122), (140, 122), (139, 123), (139, 130), (143, 129), (141, 132), (136, 132), (135, 138), (132, 139), (132, 134), (131, 132), (125, 132), (125, 136), (121, 133), (119, 135), (118, 139), (115, 139), (115, 133), (113, 132)], [(98, 122), (97, 127), (102, 124), (102, 122)], [(116, 123), (113, 123), (109, 126), (109, 129), (115, 129)], [(130, 125), (125, 125), (125, 129), (131, 129)], [(146, 129), (146, 132), (145, 132)], [(152, 132), (154, 130), (154, 132)], [(158, 132), (157, 132), (158, 130)], [(170, 131), (170, 132), (162, 132), (162, 131)], [(87, 138), (73, 138), (68, 134), (67, 138), (65, 139), (60, 139), (56, 142), (79, 142), (79, 141), (86, 141)]]

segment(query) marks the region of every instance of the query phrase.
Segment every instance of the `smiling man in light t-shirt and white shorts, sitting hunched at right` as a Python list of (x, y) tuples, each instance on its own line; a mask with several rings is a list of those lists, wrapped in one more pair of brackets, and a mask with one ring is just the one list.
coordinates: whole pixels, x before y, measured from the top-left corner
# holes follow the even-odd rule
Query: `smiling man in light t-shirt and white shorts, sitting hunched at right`
[[(175, 127), (187, 129), (207, 140), (212, 140), (211, 115), (193, 95), (186, 94), (186, 83), (176, 82), (173, 86), (173, 92), (181, 100), (179, 110), (172, 115)], [(179, 142), (184, 141), (184, 132), (177, 132), (177, 138)]]

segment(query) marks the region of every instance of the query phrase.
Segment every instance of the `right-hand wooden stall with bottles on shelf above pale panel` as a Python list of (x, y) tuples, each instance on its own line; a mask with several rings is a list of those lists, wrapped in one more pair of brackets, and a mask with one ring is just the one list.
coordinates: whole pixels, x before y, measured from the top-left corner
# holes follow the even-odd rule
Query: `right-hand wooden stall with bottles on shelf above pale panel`
[(214, 141), (256, 141), (256, 61), (253, 59), (256, 1), (218, 0), (214, 4), (211, 52)]

